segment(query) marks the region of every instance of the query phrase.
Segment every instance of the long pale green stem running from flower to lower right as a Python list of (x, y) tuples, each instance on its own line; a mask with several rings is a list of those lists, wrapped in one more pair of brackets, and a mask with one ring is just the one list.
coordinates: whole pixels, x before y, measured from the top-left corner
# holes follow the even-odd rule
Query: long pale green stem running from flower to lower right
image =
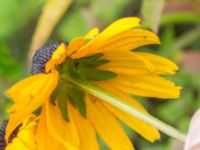
[(177, 129), (173, 128), (172, 126), (162, 122), (161, 120), (155, 118), (154, 116), (151, 116), (149, 114), (145, 114), (138, 110), (135, 107), (130, 106), (129, 104), (125, 103), (121, 98), (103, 90), (100, 87), (97, 87), (96, 85), (86, 82), (86, 81), (80, 81), (78, 79), (70, 79), (70, 81), (77, 85), (78, 87), (82, 88), (84, 91), (100, 98), (101, 100), (104, 100), (107, 103), (110, 103), (111, 105), (133, 115), (134, 117), (137, 117), (138, 119), (141, 119), (154, 127), (158, 128), (160, 131), (164, 132), (165, 134), (176, 138), (180, 141), (185, 141), (186, 135), (178, 131)]

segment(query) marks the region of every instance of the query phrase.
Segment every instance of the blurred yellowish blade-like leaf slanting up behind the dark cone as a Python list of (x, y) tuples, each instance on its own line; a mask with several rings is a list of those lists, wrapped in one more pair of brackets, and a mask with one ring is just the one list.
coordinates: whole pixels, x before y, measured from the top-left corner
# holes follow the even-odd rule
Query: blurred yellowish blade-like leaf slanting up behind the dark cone
[(39, 18), (29, 52), (29, 61), (34, 51), (46, 42), (56, 24), (64, 15), (72, 0), (47, 0)]

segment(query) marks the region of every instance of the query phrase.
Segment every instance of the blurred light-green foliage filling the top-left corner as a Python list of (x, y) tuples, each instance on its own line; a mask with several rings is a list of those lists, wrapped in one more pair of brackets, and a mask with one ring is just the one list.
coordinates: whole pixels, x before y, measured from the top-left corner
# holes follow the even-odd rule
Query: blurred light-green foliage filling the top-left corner
[(0, 39), (22, 28), (38, 11), (43, 0), (6, 0), (0, 5)]

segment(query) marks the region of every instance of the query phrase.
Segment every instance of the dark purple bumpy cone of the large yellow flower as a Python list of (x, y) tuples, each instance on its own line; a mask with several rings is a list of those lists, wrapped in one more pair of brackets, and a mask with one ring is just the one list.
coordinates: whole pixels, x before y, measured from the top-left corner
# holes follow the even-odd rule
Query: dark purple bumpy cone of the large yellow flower
[[(32, 74), (45, 73), (45, 64), (60, 44), (61, 42), (51, 42), (35, 52), (32, 59)], [(67, 45), (67, 42), (65, 44)]]

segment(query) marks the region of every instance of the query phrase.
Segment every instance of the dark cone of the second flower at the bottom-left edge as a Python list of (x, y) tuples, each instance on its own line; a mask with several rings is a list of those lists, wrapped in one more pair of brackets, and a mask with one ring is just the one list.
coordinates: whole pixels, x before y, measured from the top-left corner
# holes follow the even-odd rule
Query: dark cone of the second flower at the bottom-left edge
[(7, 120), (3, 121), (0, 128), (0, 150), (5, 150), (6, 148), (5, 133), (7, 124), (8, 124)]

